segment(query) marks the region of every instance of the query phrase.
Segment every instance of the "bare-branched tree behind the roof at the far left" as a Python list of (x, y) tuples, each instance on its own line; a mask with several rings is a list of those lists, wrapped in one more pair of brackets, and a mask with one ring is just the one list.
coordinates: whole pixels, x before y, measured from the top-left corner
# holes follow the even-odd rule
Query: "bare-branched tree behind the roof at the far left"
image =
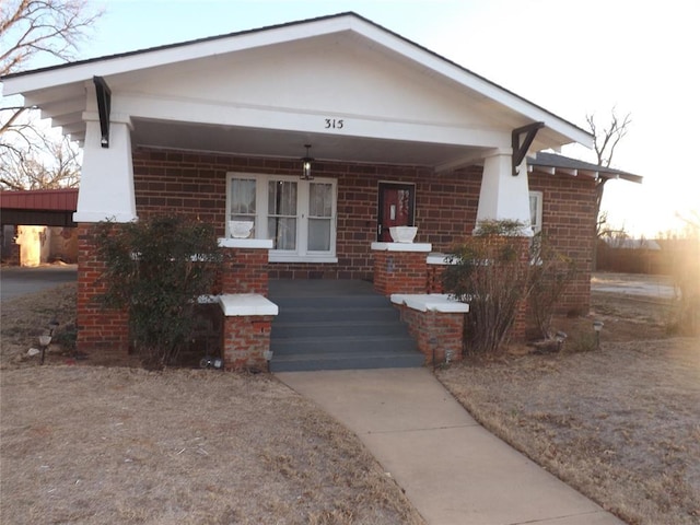
[[(38, 56), (71, 60), (100, 14), (89, 11), (86, 0), (1, 0), (0, 75), (21, 71)], [(12, 104), (11, 100), (0, 107), (2, 187), (77, 185), (75, 144), (67, 139), (48, 139), (38, 120), (38, 112)]]

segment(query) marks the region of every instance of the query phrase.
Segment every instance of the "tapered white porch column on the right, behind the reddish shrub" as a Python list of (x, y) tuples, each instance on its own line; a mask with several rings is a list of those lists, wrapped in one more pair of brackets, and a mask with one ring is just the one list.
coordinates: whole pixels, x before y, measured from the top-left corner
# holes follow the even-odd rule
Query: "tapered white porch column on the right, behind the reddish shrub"
[(483, 177), (479, 194), (477, 228), (482, 221), (520, 221), (521, 235), (532, 237), (527, 163), (524, 160), (518, 175), (513, 176), (511, 153), (498, 151), (483, 162)]

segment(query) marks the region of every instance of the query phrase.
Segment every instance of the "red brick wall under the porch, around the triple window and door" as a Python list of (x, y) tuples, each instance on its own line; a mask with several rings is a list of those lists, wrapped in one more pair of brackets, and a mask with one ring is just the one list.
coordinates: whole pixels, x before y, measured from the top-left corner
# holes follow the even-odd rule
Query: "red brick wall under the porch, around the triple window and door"
[[(296, 175), (299, 162), (226, 155), (139, 150), (133, 156), (137, 213), (177, 211), (225, 230), (226, 172)], [(474, 230), (481, 168), (435, 175), (425, 167), (315, 163), (314, 174), (338, 180), (338, 264), (269, 266), (271, 279), (371, 279), (376, 241), (377, 187), (381, 182), (416, 184), (416, 242), (433, 250)]]

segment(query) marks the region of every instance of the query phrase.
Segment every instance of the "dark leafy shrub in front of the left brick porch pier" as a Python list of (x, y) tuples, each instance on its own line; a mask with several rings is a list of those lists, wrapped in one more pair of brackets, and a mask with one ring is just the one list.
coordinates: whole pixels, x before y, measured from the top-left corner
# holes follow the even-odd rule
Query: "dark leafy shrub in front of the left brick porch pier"
[(171, 364), (191, 339), (197, 300), (211, 292), (223, 257), (213, 229), (178, 215), (97, 229), (106, 265), (103, 303), (128, 312), (130, 337), (145, 365)]

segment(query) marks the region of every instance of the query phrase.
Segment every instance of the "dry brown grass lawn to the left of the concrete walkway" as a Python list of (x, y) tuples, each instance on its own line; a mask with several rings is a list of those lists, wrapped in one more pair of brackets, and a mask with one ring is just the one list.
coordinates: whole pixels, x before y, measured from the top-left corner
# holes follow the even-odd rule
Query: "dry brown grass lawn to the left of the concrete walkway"
[(423, 523), (352, 433), (271, 376), (23, 359), (33, 319), (70, 317), (60, 290), (50, 312), (43, 294), (2, 303), (1, 523)]

